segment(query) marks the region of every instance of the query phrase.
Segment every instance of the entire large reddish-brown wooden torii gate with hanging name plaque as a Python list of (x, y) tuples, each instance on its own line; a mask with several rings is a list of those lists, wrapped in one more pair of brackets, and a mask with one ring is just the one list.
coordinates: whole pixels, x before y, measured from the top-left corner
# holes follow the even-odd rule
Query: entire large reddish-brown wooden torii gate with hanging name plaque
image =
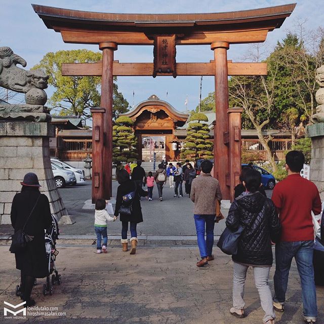
[[(98, 63), (62, 64), (62, 75), (101, 76), (100, 108), (93, 113), (92, 199), (111, 197), (113, 76), (214, 75), (214, 176), (224, 199), (233, 197), (240, 173), (240, 112), (228, 109), (228, 75), (266, 75), (266, 63), (227, 60), (230, 44), (264, 42), (279, 28), (296, 4), (206, 14), (112, 14), (32, 5), (48, 28), (60, 32), (65, 43), (97, 44)], [(118, 45), (153, 45), (153, 63), (113, 60)], [(177, 45), (210, 45), (214, 60), (176, 63)]]

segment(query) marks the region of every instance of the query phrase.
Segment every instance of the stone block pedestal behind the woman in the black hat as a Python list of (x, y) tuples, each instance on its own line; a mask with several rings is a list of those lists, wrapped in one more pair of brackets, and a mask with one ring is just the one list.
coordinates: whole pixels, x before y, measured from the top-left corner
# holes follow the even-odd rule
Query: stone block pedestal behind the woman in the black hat
[(49, 123), (0, 121), (0, 223), (10, 224), (11, 203), (21, 191), (20, 182), (27, 172), (37, 175), (39, 190), (50, 201), (51, 212), (59, 220), (67, 215), (54, 182), (49, 138), (55, 128)]

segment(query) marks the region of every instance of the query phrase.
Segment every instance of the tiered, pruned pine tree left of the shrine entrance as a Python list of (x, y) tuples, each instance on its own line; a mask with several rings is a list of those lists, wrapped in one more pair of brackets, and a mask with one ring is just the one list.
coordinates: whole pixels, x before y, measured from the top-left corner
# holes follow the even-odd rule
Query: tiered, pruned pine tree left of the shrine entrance
[(123, 168), (122, 163), (138, 158), (133, 125), (134, 121), (130, 117), (120, 116), (112, 128), (112, 161), (117, 169)]

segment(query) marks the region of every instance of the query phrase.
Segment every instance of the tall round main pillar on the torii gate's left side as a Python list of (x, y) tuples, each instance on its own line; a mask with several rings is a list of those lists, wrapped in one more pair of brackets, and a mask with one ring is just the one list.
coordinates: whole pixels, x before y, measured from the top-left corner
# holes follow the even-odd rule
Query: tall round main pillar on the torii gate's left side
[(110, 199), (112, 194), (112, 94), (113, 94), (113, 51), (117, 44), (113, 42), (99, 43), (102, 50), (102, 77), (100, 107), (105, 108), (103, 120), (103, 197)]

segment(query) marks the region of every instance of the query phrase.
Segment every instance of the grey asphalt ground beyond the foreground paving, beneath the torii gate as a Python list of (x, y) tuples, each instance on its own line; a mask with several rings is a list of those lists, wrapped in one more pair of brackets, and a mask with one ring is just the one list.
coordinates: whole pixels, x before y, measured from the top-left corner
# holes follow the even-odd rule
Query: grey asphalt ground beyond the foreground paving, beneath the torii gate
[[(118, 183), (113, 181), (112, 184), (113, 196), (115, 196)], [(91, 182), (87, 181), (84, 185), (62, 188), (60, 193), (69, 215), (73, 215), (76, 221), (73, 225), (60, 225), (61, 234), (95, 235), (93, 228), (94, 210), (83, 209), (85, 201), (91, 198)], [(272, 190), (267, 190), (267, 194), (271, 197)], [(193, 203), (186, 194), (183, 198), (174, 198), (173, 195), (174, 189), (166, 185), (163, 192), (163, 201), (158, 200), (156, 187), (153, 189), (152, 201), (142, 198), (141, 206), (144, 222), (138, 224), (138, 235), (190, 236), (196, 234), (193, 220)], [(222, 209), (222, 212), (224, 216), (227, 216), (227, 210)], [(220, 235), (224, 228), (224, 221), (216, 224), (215, 235)], [(108, 235), (119, 236), (120, 231), (121, 224), (119, 220), (108, 223)], [(11, 232), (11, 225), (0, 225), (0, 234)]]

